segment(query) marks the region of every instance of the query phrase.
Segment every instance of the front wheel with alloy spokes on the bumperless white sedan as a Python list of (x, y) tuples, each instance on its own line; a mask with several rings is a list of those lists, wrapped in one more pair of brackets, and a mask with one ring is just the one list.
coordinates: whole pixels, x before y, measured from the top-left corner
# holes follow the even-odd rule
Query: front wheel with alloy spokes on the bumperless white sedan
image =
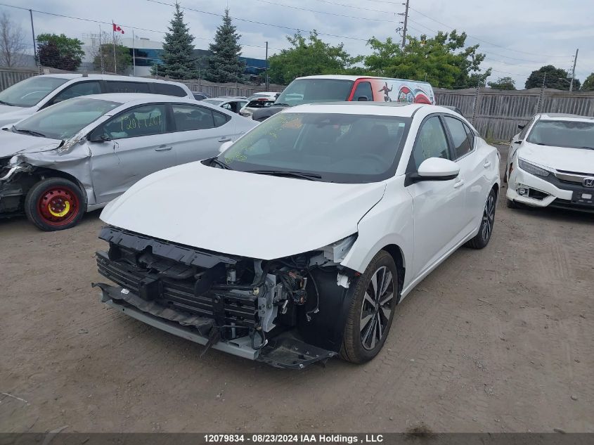
[(397, 296), (396, 264), (380, 250), (356, 285), (340, 348), (342, 359), (364, 363), (380, 352), (392, 326)]

